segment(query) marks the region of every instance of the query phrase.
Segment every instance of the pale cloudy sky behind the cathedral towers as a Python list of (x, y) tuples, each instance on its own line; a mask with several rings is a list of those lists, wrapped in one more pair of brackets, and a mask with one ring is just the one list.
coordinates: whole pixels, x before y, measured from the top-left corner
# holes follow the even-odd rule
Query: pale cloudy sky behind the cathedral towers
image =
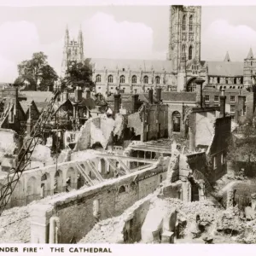
[[(202, 7), (201, 59), (243, 61), (256, 54), (256, 6)], [(1, 7), (0, 82), (12, 82), (17, 64), (44, 51), (57, 73), (65, 28), (84, 32), (84, 56), (166, 59), (168, 6)]]

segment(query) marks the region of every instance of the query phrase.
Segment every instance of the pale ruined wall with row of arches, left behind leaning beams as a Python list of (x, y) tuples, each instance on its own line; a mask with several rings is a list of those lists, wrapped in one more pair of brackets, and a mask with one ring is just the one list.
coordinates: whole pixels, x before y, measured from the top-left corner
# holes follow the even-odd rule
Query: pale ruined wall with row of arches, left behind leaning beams
[[(109, 168), (108, 162), (102, 158), (96, 158), (93, 152), (93, 150), (88, 150), (88, 152), (84, 154), (83, 152), (74, 153), (72, 160), (59, 163), (57, 170), (54, 164), (23, 172), (15, 187), (14, 194), (10, 198), (8, 207), (25, 206), (32, 201), (54, 195), (56, 192), (61, 193), (66, 190), (68, 177), (71, 179), (68, 189), (79, 189), (78, 164), (85, 168), (85, 172), (92, 180), (96, 180), (95, 175), (90, 171), (87, 160), (91, 160), (95, 166), (101, 165), (98, 170), (101, 172), (102, 177), (113, 177), (113, 169)], [(56, 171), (58, 171), (57, 175)], [(5, 182), (5, 177), (1, 177), (0, 185)], [(57, 189), (55, 189), (55, 182), (57, 183)], [(44, 184), (44, 189), (42, 189), (42, 184)], [(83, 183), (80, 184), (80, 186), (81, 185), (83, 185)]]

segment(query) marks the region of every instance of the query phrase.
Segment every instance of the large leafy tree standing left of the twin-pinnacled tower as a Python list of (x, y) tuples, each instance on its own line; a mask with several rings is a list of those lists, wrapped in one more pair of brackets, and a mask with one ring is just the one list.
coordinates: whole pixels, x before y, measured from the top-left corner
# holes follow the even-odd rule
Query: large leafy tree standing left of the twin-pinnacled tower
[(16, 81), (22, 81), (23, 84), (26, 81), (33, 90), (46, 90), (58, 79), (55, 70), (47, 62), (47, 55), (41, 51), (34, 53), (31, 60), (22, 61), (18, 65), (18, 72)]

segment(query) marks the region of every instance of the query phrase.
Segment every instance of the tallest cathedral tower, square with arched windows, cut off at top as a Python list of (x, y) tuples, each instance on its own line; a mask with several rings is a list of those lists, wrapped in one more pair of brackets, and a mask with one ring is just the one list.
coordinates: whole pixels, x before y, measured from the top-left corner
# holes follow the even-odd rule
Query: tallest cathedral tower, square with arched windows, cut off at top
[(201, 61), (201, 6), (172, 5), (169, 23), (168, 59), (178, 73), (183, 52), (187, 61)]

